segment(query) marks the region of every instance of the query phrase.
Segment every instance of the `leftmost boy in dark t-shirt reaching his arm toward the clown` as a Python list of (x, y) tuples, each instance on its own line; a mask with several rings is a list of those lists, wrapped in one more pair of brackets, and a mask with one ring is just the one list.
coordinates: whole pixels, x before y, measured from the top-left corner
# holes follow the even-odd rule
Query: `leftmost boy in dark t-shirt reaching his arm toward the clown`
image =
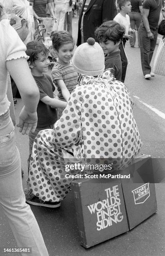
[(55, 108), (65, 108), (66, 102), (53, 98), (55, 87), (51, 77), (46, 73), (48, 71), (48, 49), (39, 41), (31, 41), (27, 44), (26, 54), (29, 56), (28, 64), (31, 73), (36, 81), (40, 91), (40, 100), (37, 107), (38, 122), (36, 131), (29, 133), (29, 158), (28, 170), (30, 166), (30, 154), (33, 148), (33, 142), (39, 131), (52, 129), (57, 120)]

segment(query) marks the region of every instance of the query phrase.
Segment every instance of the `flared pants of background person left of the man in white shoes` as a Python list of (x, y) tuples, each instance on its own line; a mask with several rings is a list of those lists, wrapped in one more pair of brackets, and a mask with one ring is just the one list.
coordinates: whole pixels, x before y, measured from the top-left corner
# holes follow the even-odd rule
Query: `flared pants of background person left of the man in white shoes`
[[(140, 26), (140, 22), (142, 20), (142, 15), (141, 15), (141, 13), (138, 13), (138, 12), (131, 12), (131, 13), (129, 13), (129, 18), (130, 18), (131, 28), (137, 29), (138, 46), (140, 46), (138, 29)], [(131, 36), (133, 36), (133, 38), (129, 39), (130, 46), (135, 46), (136, 35), (135, 35), (135, 33), (133, 33)]]

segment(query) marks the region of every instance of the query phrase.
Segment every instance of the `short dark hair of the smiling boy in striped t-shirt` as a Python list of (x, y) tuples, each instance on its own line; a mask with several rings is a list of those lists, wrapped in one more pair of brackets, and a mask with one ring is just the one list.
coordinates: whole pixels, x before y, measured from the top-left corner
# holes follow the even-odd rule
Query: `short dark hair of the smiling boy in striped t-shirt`
[(58, 51), (62, 44), (75, 44), (71, 34), (67, 31), (55, 31), (52, 37), (53, 49)]

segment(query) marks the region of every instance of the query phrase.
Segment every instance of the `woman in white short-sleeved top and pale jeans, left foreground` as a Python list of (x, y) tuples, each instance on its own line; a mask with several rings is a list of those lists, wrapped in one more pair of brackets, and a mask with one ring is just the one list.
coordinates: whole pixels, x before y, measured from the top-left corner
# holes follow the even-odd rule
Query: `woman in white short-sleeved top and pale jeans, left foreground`
[(36, 218), (25, 203), (20, 154), (15, 143), (10, 102), (6, 95), (9, 71), (25, 104), (19, 116), (20, 132), (28, 134), (30, 130), (34, 131), (39, 92), (30, 74), (25, 49), (0, 4), (0, 206), (8, 218), (17, 246), (31, 247), (30, 255), (33, 256), (48, 256)]

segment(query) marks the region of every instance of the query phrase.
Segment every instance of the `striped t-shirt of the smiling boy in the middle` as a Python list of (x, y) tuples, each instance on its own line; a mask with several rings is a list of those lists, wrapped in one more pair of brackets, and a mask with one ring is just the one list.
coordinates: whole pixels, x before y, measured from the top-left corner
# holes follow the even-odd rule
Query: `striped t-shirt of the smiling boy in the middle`
[(74, 70), (74, 68), (72, 66), (69, 67), (65, 67), (62, 64), (58, 64), (56, 63), (51, 71), (51, 75), (53, 78), (53, 83), (56, 85), (57, 90), (58, 90), (58, 97), (60, 99), (64, 99), (61, 89), (58, 86), (56, 80), (58, 79), (62, 79), (63, 82), (66, 85), (66, 88), (69, 90), (69, 92), (71, 93), (74, 88), (76, 87), (76, 85), (78, 84), (77, 79), (77, 72)]

